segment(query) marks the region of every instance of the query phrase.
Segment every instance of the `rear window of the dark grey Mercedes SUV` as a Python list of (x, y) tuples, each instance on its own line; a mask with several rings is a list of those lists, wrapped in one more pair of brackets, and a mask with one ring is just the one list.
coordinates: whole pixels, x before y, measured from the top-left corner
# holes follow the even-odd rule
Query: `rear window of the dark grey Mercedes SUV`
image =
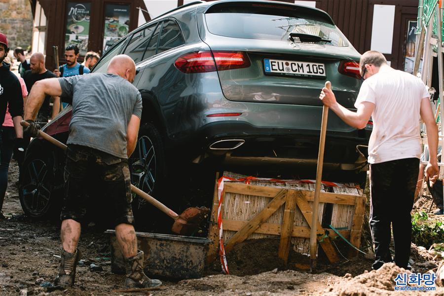
[[(274, 5), (220, 6), (210, 8), (205, 13), (205, 20), (208, 31), (220, 36), (288, 40), (290, 33), (301, 33), (331, 40), (317, 41), (318, 44), (349, 45), (347, 38), (333, 25), (328, 15), (307, 7), (293, 7), (283, 9)], [(299, 42), (297, 37), (294, 37), (294, 40)]]

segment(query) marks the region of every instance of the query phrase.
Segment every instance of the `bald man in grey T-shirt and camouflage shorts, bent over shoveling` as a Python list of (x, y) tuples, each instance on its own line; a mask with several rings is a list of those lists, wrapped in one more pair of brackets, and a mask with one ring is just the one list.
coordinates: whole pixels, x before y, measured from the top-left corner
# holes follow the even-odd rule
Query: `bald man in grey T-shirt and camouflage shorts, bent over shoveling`
[(134, 151), (142, 115), (142, 98), (131, 82), (136, 68), (127, 55), (111, 59), (107, 74), (77, 75), (37, 81), (28, 99), (24, 130), (38, 136), (34, 122), (44, 97), (60, 96), (73, 106), (65, 168), (65, 198), (61, 213), (62, 258), (55, 284), (74, 285), (80, 259), (77, 243), (80, 222), (86, 214), (88, 184), (100, 177), (100, 189), (112, 205), (111, 216), (117, 241), (125, 257), (128, 288), (161, 285), (143, 270), (144, 253), (137, 249), (131, 209), (127, 158)]

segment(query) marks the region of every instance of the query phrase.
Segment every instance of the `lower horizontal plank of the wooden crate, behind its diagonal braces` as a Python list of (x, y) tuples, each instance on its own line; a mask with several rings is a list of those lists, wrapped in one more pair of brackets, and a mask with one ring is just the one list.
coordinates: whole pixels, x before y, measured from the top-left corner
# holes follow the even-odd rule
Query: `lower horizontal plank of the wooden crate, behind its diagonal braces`
[[(242, 227), (247, 224), (248, 221), (236, 221), (236, 220), (225, 220), (222, 219), (223, 223), (223, 230), (227, 231), (239, 231), (242, 229)], [(281, 233), (281, 225), (280, 224), (272, 224), (272, 223), (262, 223), (256, 229), (255, 233), (262, 233), (262, 234), (275, 234), (279, 235)], [(335, 238), (336, 234), (333, 232), (332, 229), (323, 228), (318, 229), (320, 234), (325, 233), (326, 231), (329, 231), (329, 237)], [(339, 230), (339, 233), (342, 234), (346, 239), (350, 238), (350, 230)], [(310, 228), (304, 227), (304, 226), (296, 226), (293, 225), (292, 229), (292, 237), (301, 237), (301, 238), (309, 238), (310, 237)]]

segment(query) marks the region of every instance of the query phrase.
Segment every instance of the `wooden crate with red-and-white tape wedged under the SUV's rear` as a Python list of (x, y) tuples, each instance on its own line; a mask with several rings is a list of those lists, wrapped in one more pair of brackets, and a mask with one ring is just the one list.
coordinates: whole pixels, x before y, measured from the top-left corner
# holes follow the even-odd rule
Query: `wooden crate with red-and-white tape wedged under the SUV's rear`
[[(222, 223), (225, 252), (245, 239), (280, 237), (279, 257), (288, 260), (290, 248), (301, 254), (309, 254), (310, 224), (314, 184), (282, 182), (277, 180), (249, 179), (241, 175), (225, 173), (231, 179), (224, 182), (222, 193)], [(244, 176), (245, 177), (245, 176)], [(328, 190), (334, 192), (327, 192)], [(328, 187), (322, 185), (318, 212), (318, 241), (331, 262), (339, 260), (331, 238), (336, 237), (332, 229), (324, 229), (321, 223), (341, 228), (339, 232), (359, 248), (364, 218), (365, 195), (362, 190), (347, 186)], [(219, 228), (217, 224), (219, 199), (217, 182), (209, 237), (213, 241), (207, 256), (211, 262), (218, 252)], [(324, 211), (330, 207), (331, 216)], [(350, 252), (351, 256), (355, 250)]]

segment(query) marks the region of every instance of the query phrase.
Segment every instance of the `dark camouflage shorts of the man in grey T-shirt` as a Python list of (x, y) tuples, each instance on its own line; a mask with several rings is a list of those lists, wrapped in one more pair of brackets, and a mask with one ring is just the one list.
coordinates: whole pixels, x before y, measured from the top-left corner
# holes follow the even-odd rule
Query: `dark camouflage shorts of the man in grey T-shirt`
[(65, 197), (61, 220), (82, 222), (89, 198), (94, 198), (88, 190), (94, 185), (99, 186), (111, 205), (108, 207), (111, 213), (107, 213), (107, 216), (114, 226), (134, 223), (127, 159), (94, 148), (68, 145), (64, 178)]

